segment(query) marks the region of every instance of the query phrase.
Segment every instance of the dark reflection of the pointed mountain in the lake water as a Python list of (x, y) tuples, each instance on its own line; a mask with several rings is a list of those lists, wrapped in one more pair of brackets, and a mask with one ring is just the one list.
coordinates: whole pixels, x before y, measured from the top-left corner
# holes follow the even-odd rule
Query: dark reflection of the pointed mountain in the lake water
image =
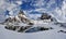
[(9, 30), (14, 30), (14, 31), (18, 31), (18, 32), (23, 32), (25, 29), (29, 29), (30, 27), (32, 26), (6, 26), (4, 28), (6, 29), (9, 29)]

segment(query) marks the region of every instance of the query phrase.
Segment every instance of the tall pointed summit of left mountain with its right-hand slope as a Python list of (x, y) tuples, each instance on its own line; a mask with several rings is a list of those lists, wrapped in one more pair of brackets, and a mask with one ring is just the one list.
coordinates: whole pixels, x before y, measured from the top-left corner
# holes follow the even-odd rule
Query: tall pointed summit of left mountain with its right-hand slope
[(21, 20), (21, 22), (29, 24), (29, 25), (33, 25), (33, 23), (31, 23), (31, 21), (25, 16), (23, 11), (20, 11), (20, 13), (18, 14), (18, 17)]

